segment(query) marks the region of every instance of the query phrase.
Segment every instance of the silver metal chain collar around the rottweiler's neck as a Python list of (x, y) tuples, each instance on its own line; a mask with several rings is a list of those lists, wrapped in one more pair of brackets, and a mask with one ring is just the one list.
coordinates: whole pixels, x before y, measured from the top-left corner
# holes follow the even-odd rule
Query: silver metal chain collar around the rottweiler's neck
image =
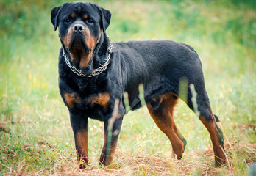
[[(69, 61), (67, 55), (65, 54), (65, 49), (62, 46), (61, 48), (63, 48), (63, 56), (65, 58), (65, 63), (68, 65), (68, 67), (70, 67), (71, 71), (76, 73), (78, 76), (80, 77), (85, 77), (85, 73), (82, 72), (82, 70), (77, 69), (76, 67), (74, 67), (73, 65), (71, 65), (71, 62)], [(110, 55), (112, 53), (112, 49), (113, 49), (113, 45), (112, 43), (110, 43), (110, 46), (107, 48), (107, 51), (109, 52), (107, 59), (105, 59), (105, 63), (103, 65), (101, 65), (102, 67), (99, 67), (95, 70), (93, 70), (93, 73), (90, 73), (90, 75), (88, 75), (88, 77), (93, 77), (96, 75), (99, 75), (100, 73), (102, 73), (104, 70), (107, 69), (107, 65), (110, 63)]]

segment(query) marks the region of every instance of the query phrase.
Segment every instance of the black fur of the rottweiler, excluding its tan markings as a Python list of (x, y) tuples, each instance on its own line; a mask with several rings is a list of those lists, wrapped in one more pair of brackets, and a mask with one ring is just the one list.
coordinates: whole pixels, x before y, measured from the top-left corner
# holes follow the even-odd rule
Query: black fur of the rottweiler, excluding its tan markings
[[(69, 27), (76, 22), (72, 21), (70, 24), (63, 22), (65, 16), (71, 13), (75, 13), (78, 16), (88, 14), (93, 17), (93, 26), (83, 22), (90, 29), (92, 36), (97, 36), (99, 29), (102, 29), (99, 43), (95, 45), (92, 51), (93, 58), (87, 67), (80, 67), (85, 74), (89, 75), (93, 72), (93, 69), (100, 67), (105, 62), (109, 54), (107, 48), (110, 46), (110, 40), (105, 30), (110, 24), (111, 13), (96, 4), (82, 2), (66, 3), (62, 7), (55, 7), (51, 11), (51, 22), (55, 30), (59, 27), (60, 38), (64, 37)], [(81, 20), (80, 18), (76, 19), (77, 21)], [(199, 112), (207, 121), (212, 120), (212, 114), (209, 111), (210, 102), (205, 90), (202, 64), (198, 54), (191, 46), (170, 40), (131, 41), (128, 43), (112, 43), (112, 45), (113, 51), (110, 55), (110, 64), (101, 74), (93, 77), (79, 77), (73, 73), (66, 65), (63, 51), (60, 50), (60, 95), (62, 95), (66, 106), (68, 106), (68, 103), (65, 100), (65, 93), (75, 94), (80, 100), (74, 102), (72, 106), (68, 106), (74, 135), (85, 128), (88, 123), (88, 117), (104, 121), (105, 131), (107, 131), (106, 124), (112, 117), (116, 99), (121, 100), (118, 108), (121, 118), (115, 123), (113, 131), (120, 129), (121, 120), (125, 113), (124, 92), (128, 93), (130, 109), (139, 109), (141, 100), (138, 86), (143, 84), (146, 103), (150, 103), (153, 109), (157, 109), (161, 103), (161, 95), (171, 92), (178, 98), (179, 80), (181, 78), (187, 78), (189, 84), (194, 84), (198, 95), (196, 101)], [(70, 56), (68, 52), (66, 54)], [(79, 67), (76, 63), (73, 63), (73, 65)], [(104, 108), (100, 103), (91, 103), (91, 98), (94, 95), (97, 96), (104, 92), (108, 92), (110, 95), (107, 107)], [(191, 90), (188, 89), (186, 103), (193, 110), (191, 96)], [(216, 118), (216, 120), (218, 119)], [(81, 125), (79, 125), (80, 123)], [(112, 140), (117, 137), (118, 134)]]

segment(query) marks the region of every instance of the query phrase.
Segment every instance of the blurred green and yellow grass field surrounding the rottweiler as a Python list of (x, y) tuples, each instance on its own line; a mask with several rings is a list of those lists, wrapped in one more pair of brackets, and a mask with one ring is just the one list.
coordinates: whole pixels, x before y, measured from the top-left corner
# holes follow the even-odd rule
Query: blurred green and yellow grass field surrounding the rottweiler
[(57, 87), (60, 41), (50, 12), (63, 2), (0, 2), (0, 175), (256, 175), (255, 0), (93, 1), (112, 12), (112, 41), (168, 39), (195, 48), (229, 165), (214, 167), (206, 128), (179, 101), (175, 120), (188, 141), (181, 161), (143, 107), (124, 117), (109, 168), (98, 166), (104, 125), (89, 121), (85, 170)]

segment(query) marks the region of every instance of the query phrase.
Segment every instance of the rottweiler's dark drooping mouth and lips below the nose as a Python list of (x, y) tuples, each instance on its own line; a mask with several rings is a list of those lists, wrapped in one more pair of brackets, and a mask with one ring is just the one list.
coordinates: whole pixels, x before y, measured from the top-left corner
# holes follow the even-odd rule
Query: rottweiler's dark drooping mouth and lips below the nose
[(70, 53), (80, 51), (80, 52), (85, 52), (85, 54), (90, 54), (92, 51), (92, 48), (90, 48), (86, 43), (85, 43), (85, 35), (84, 34), (74, 34), (71, 42), (69, 43), (68, 46), (68, 51)]

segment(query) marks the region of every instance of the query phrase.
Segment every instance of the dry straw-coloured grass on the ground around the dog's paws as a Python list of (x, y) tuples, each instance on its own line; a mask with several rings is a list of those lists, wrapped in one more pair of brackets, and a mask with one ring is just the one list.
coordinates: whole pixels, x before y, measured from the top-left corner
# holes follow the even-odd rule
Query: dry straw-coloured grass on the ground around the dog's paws
[[(42, 144), (46, 144), (42, 142)], [(171, 158), (170, 155), (152, 155), (143, 150), (134, 153), (124, 153), (117, 149), (112, 166), (98, 166), (98, 157), (90, 158), (86, 169), (79, 169), (74, 165), (75, 156), (60, 158), (52, 163), (51, 169), (46, 171), (24, 172), (21, 162), (17, 170), (10, 168), (10, 175), (235, 175), (235, 153), (243, 153), (244, 163), (256, 162), (256, 144), (239, 142), (225, 142), (225, 150), (229, 161), (228, 166), (217, 168), (213, 166), (213, 149), (195, 150), (185, 154), (182, 160)], [(8, 174), (8, 173), (6, 173)]]

